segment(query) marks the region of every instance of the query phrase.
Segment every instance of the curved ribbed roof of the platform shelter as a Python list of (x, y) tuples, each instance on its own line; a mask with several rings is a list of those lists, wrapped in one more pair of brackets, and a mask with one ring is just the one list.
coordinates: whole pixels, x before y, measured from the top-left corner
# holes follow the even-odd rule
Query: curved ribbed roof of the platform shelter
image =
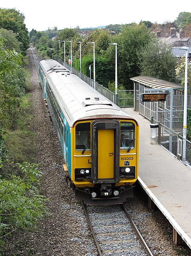
[(140, 77), (132, 77), (131, 80), (133, 82), (139, 82), (143, 85), (146, 85), (153, 89), (174, 89), (174, 90), (184, 90), (184, 86), (168, 82), (159, 78), (155, 77), (146, 77), (146, 76), (140, 76)]

